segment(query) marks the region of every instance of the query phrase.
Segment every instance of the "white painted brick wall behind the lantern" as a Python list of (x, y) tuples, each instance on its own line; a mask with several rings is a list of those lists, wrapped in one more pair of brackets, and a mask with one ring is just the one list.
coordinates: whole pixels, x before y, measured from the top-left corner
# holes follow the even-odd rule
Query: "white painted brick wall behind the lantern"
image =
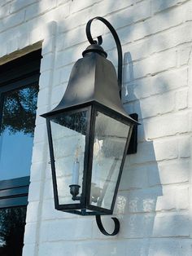
[[(141, 122), (117, 196), (115, 237), (103, 236), (92, 217), (55, 210), (39, 117), (59, 103), (96, 15), (119, 34), (124, 108)], [(116, 65), (111, 34), (99, 22), (93, 31), (103, 33)], [(27, 46), (41, 45), (43, 55), (23, 255), (192, 255), (192, 0), (0, 0), (0, 44), (0, 63)], [(103, 223), (110, 231), (110, 216)]]

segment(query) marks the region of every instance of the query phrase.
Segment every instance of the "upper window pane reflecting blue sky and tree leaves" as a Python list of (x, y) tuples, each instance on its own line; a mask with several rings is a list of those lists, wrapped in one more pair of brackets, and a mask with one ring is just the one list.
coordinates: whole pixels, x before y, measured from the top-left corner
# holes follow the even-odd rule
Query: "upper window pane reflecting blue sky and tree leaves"
[(0, 180), (30, 173), (38, 86), (7, 92), (2, 101)]

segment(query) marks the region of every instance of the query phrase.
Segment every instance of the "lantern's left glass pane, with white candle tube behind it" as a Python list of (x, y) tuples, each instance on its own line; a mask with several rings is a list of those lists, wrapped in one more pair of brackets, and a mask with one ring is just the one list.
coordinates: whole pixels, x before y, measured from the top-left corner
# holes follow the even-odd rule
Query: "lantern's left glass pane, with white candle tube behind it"
[(87, 112), (60, 114), (50, 120), (59, 205), (73, 201), (69, 186), (78, 184), (82, 192)]

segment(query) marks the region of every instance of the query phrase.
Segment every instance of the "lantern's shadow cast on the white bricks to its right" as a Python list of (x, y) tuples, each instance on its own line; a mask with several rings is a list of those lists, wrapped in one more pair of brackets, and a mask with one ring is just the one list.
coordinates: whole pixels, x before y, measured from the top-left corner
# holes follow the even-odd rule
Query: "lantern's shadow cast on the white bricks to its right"
[[(124, 76), (129, 73), (129, 82), (134, 81), (133, 61), (129, 52), (124, 53), (124, 61), (128, 63), (124, 68)], [(125, 93), (129, 95), (130, 99), (137, 101), (136, 110), (131, 106), (129, 108), (129, 104), (126, 110), (128, 113), (137, 113), (141, 125), (138, 126), (137, 153), (127, 157), (125, 162), (115, 212), (118, 217), (119, 214), (121, 216), (119, 236), (132, 239), (140, 238), (137, 240), (136, 247), (133, 242), (129, 248), (126, 249), (125, 247), (125, 251), (128, 253), (130, 249), (130, 252), (133, 252), (130, 255), (148, 255), (149, 241), (144, 245), (143, 240), (153, 236), (156, 204), (158, 197), (162, 196), (163, 192), (153, 141), (145, 141), (139, 100), (134, 95), (133, 87), (132, 90), (129, 87), (127, 92), (122, 91), (123, 99), (128, 97)], [(158, 184), (158, 186), (154, 188), (153, 183)]]

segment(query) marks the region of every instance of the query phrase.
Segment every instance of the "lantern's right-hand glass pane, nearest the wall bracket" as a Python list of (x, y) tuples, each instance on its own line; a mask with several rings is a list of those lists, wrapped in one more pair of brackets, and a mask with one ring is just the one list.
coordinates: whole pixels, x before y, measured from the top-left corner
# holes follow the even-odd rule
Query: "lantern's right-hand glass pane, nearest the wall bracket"
[(90, 204), (111, 209), (129, 126), (97, 113)]

